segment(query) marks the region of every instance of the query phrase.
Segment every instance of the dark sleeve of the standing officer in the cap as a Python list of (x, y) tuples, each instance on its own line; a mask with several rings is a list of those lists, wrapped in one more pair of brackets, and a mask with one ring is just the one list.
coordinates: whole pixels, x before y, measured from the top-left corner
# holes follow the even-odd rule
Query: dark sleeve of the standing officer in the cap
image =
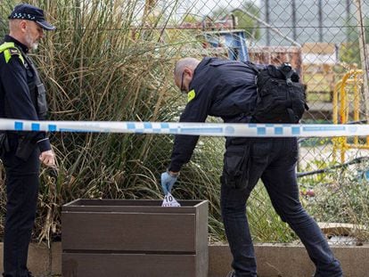
[[(26, 69), (17, 55), (0, 70), (0, 78), (4, 86), (4, 106), (6, 117), (26, 120), (39, 120), (37, 110), (29, 94)], [(50, 150), (51, 146), (45, 132), (29, 134), (32, 141), (37, 142), (40, 151)]]

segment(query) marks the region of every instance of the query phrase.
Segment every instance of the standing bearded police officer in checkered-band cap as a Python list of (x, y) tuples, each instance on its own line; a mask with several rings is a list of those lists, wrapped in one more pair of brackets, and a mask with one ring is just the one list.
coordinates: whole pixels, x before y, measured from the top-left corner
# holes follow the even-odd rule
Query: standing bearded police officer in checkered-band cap
[[(43, 120), (47, 112), (45, 86), (28, 56), (36, 50), (44, 30), (55, 27), (44, 11), (30, 4), (15, 6), (9, 16), (10, 33), (0, 45), (0, 118)], [(27, 268), (29, 240), (36, 216), (40, 162), (55, 167), (45, 132), (2, 134), (1, 159), (6, 173), (4, 276), (32, 276)]]

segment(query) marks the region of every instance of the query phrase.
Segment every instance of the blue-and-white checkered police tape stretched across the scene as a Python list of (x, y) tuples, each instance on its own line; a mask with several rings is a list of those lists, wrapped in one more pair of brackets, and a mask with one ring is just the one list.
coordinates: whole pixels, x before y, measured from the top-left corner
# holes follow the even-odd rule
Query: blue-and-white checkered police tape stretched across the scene
[(253, 124), (0, 119), (0, 130), (73, 133), (189, 134), (243, 137), (367, 136), (369, 125)]

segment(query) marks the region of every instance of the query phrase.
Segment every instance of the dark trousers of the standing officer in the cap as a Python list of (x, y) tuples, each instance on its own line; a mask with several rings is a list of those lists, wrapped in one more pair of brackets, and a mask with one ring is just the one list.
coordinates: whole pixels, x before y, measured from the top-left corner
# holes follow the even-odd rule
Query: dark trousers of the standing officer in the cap
[(9, 141), (11, 151), (3, 157), (6, 173), (6, 221), (4, 230), (4, 276), (29, 275), (27, 257), (29, 240), (35, 222), (39, 183), (37, 148), (29, 159), (15, 156), (17, 139)]

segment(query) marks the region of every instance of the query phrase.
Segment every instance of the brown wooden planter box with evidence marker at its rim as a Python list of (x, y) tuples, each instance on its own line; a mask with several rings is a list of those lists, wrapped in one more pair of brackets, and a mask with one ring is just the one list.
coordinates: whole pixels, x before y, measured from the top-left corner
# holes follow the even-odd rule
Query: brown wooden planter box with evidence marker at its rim
[(207, 277), (208, 201), (74, 200), (62, 207), (63, 277)]

